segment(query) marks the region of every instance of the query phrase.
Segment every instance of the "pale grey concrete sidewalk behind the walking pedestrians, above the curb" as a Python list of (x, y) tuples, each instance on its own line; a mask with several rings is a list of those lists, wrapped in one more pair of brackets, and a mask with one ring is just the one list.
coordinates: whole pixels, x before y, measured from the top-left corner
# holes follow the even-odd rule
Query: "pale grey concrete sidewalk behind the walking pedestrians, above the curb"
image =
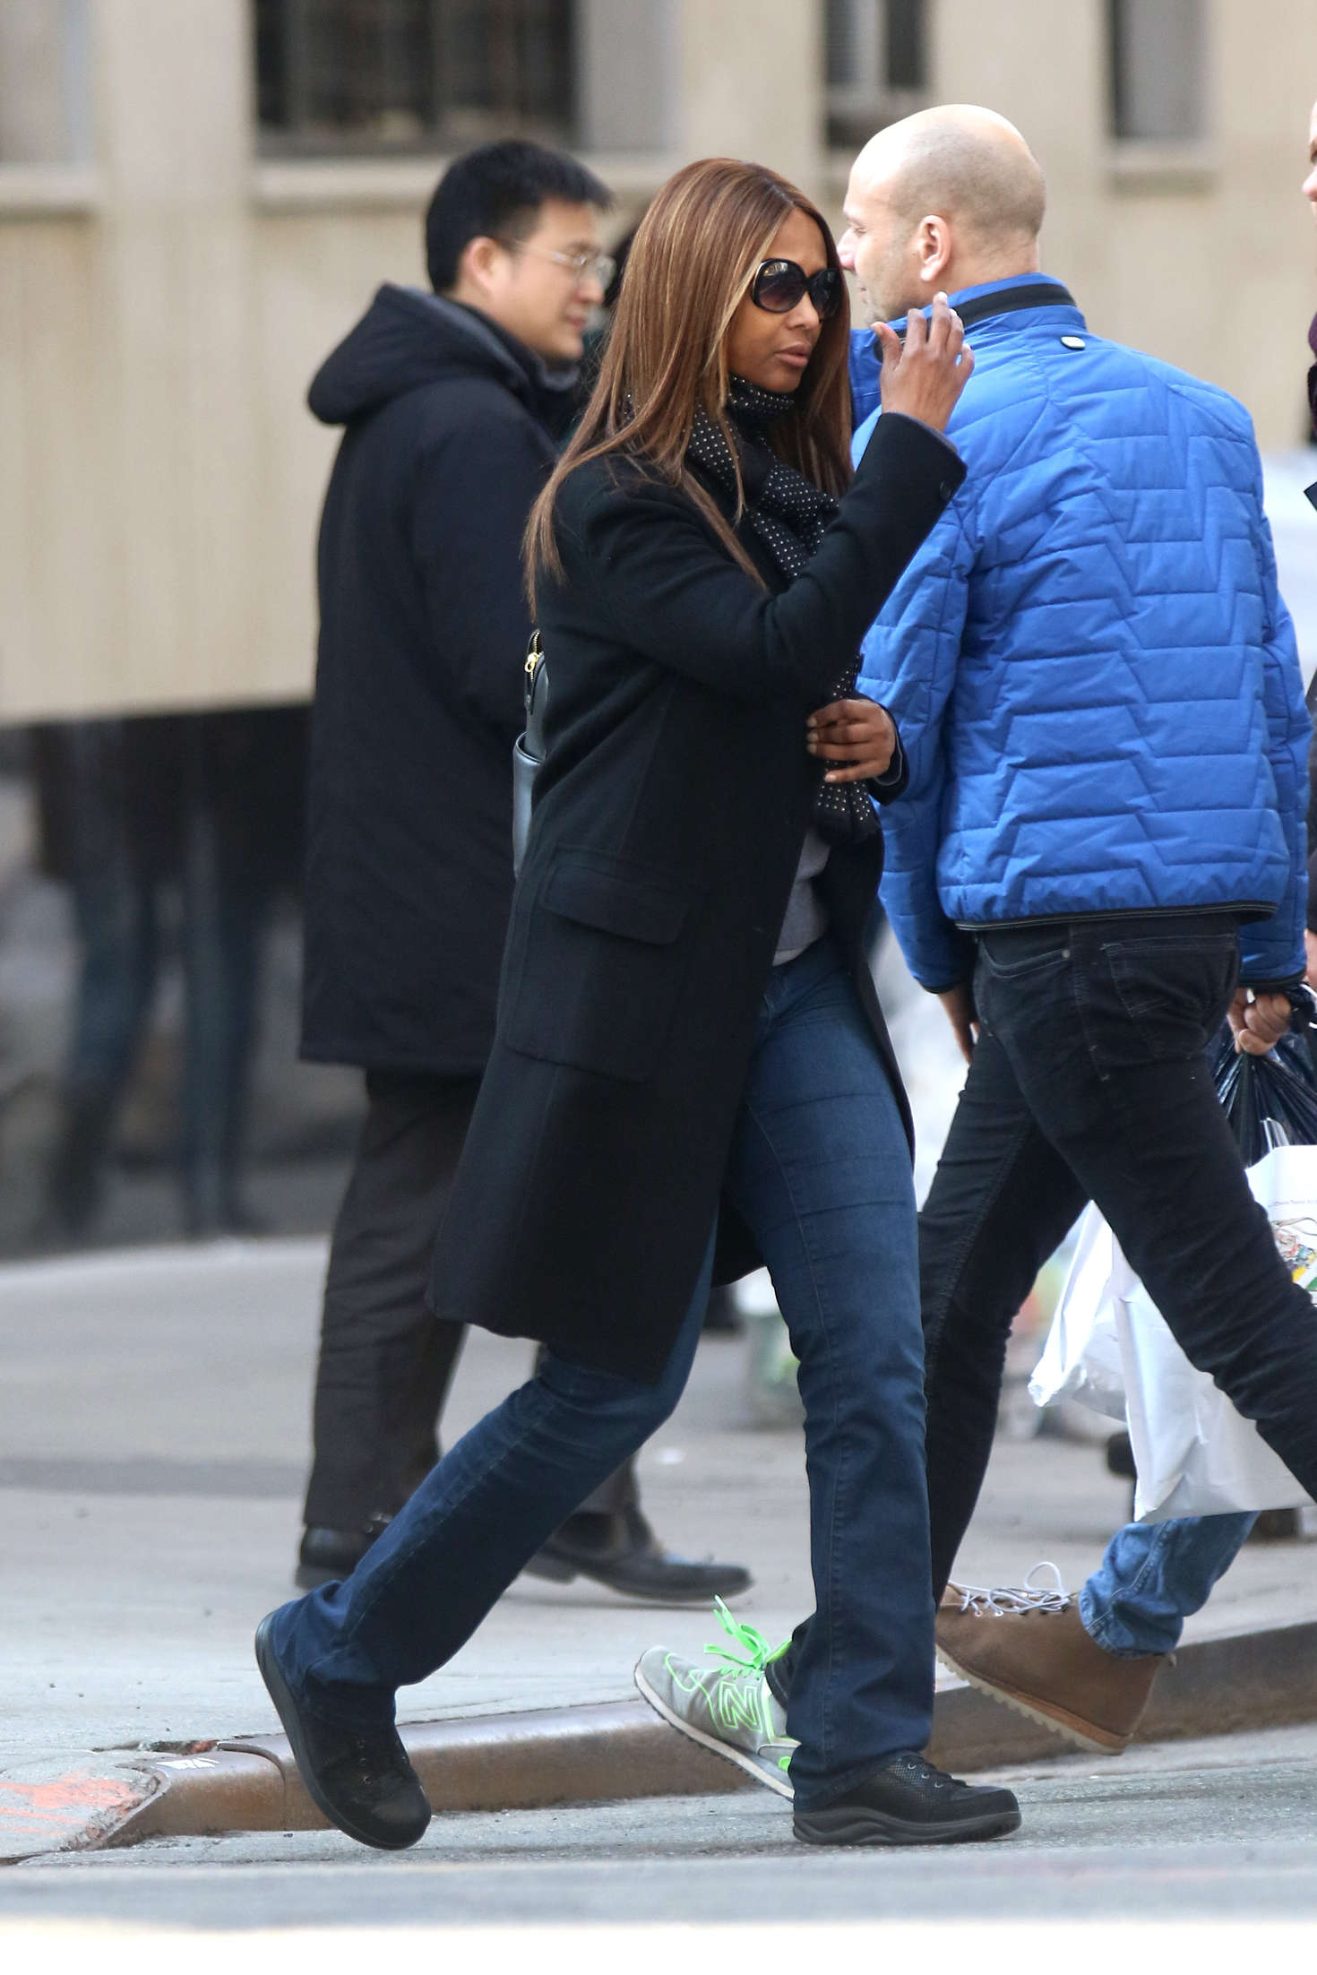
[[(0, 1272), (0, 1785), (81, 1774), (95, 1797), (107, 1762), (89, 1752), (174, 1744), (188, 1762), (192, 1742), (274, 1730), (251, 1629), (290, 1592), (322, 1270), (322, 1242), (265, 1242)], [(527, 1363), (474, 1335), (450, 1436)], [(744, 1379), (742, 1341), (701, 1347), (642, 1485), (667, 1542), (750, 1564), (738, 1612), (778, 1637), (810, 1606), (802, 1442), (746, 1428)], [(1076, 1586), (1123, 1513), (1096, 1448), (1003, 1442), (958, 1574), (1017, 1582), (1048, 1556)], [(1189, 1637), (1299, 1621), (1317, 1621), (1317, 1544), (1250, 1546)], [(626, 1702), (648, 1645), (699, 1655), (715, 1631), (707, 1612), (519, 1580), (399, 1714)]]

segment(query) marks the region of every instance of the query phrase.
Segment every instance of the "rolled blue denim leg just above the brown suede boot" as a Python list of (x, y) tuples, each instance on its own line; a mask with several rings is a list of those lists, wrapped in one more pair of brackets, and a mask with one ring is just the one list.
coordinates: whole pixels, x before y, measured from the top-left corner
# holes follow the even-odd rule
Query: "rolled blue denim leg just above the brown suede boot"
[(1088, 1635), (1118, 1659), (1173, 1653), (1254, 1527), (1254, 1515), (1125, 1523), (1080, 1592)]

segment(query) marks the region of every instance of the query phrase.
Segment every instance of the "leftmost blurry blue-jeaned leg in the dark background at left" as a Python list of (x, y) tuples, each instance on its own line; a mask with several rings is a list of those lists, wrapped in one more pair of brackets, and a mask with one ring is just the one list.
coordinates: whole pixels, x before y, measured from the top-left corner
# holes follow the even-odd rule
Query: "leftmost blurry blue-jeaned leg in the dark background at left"
[(124, 721), (55, 731), (67, 776), (69, 873), (81, 944), (73, 1037), (47, 1181), (45, 1238), (77, 1238), (101, 1203), (105, 1161), (156, 984), (156, 897), (140, 841)]

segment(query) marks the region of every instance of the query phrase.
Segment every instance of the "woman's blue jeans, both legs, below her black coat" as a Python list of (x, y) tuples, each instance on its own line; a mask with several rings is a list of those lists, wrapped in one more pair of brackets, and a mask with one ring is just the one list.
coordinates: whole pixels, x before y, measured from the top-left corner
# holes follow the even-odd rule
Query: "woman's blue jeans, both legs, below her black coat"
[[(932, 1726), (924, 1355), (910, 1159), (831, 940), (776, 968), (727, 1195), (756, 1236), (800, 1359), (817, 1612), (792, 1685), (796, 1801), (827, 1803)], [(658, 1386), (547, 1353), (430, 1469), (346, 1584), (274, 1616), (312, 1712), (393, 1720), (557, 1525), (667, 1418), (711, 1260)]]

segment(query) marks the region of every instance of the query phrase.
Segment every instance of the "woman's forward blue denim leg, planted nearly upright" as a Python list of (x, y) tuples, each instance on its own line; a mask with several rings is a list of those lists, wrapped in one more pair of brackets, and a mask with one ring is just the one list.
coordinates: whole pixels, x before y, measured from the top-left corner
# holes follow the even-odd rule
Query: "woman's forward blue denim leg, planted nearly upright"
[(800, 1359), (815, 1616), (792, 1675), (798, 1805), (932, 1726), (924, 1349), (910, 1151), (831, 942), (774, 970), (729, 1167)]

